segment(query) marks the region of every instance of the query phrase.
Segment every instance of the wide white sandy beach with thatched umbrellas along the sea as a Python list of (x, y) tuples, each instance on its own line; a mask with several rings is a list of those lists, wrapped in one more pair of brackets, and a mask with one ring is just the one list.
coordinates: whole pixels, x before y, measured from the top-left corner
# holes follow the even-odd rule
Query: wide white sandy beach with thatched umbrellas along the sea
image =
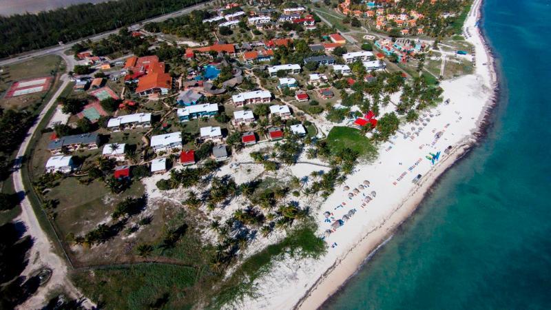
[[(369, 180), (370, 187), (351, 199), (348, 198), (351, 190), (344, 191), (344, 185), (335, 189), (316, 215), (320, 236), (331, 229), (333, 220), (341, 219), (351, 209), (356, 213), (325, 239), (329, 245), (327, 254), (319, 260), (287, 258), (276, 262), (269, 276), (255, 283), (260, 297), (245, 300), (246, 309), (320, 307), (357, 271), (366, 257), (413, 214), (438, 176), (475, 143), (475, 134), (493, 103), (497, 87), (492, 56), (479, 29), (475, 28), (480, 18), (481, 1), (475, 1), (464, 25), (467, 40), (476, 49), (475, 74), (442, 82), (444, 99), (450, 99), (450, 103), (442, 103), (422, 116), (430, 121), (415, 125), (415, 131), (424, 127), (419, 136), (404, 139), (402, 134), (397, 134), (392, 143), (381, 146), (376, 163), (358, 166), (346, 180), (351, 189), (364, 180)], [(423, 126), (423, 122), (427, 125)], [(402, 125), (400, 131), (412, 132), (411, 127), (412, 124)], [(440, 138), (435, 138), (437, 132), (441, 132)], [(452, 152), (444, 154), (444, 149), (450, 145)], [(433, 165), (426, 156), (437, 152), (441, 155)], [(416, 185), (412, 180), (417, 174), (422, 174), (422, 179)], [(372, 191), (376, 192), (375, 198), (362, 207), (364, 195)], [(338, 205), (342, 207), (335, 209)], [(325, 211), (332, 214), (329, 223), (325, 221)], [(336, 247), (332, 247), (335, 243)]]

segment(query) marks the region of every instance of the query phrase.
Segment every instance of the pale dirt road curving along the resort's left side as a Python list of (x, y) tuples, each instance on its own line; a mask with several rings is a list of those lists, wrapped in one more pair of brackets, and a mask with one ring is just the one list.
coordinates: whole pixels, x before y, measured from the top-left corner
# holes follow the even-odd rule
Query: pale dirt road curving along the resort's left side
[[(66, 55), (62, 57), (63, 59), (70, 58)], [(67, 61), (67, 70), (72, 70), (72, 68), (72, 62)], [(61, 95), (63, 90), (65, 90), (65, 87), (67, 87), (67, 85), (70, 83), (69, 76), (67, 76), (67, 74), (63, 74), (63, 76), (61, 76), (61, 81), (63, 81), (63, 83), (61, 83), (59, 89), (54, 93), (54, 96), (52, 96), (52, 99), (48, 101), (44, 109), (40, 112), (39, 116), (37, 117), (37, 121), (34, 123), (34, 125), (32, 125), (32, 127), (30, 127), (28, 135), (25, 137), (23, 143), (21, 143), (21, 147), (19, 147), (19, 151), (17, 152), (16, 163), (14, 165), (15, 171), (12, 175), (12, 178), (14, 189), (18, 193), (27, 192), (27, 189), (25, 189), (25, 186), (23, 185), (23, 177), (21, 175), (21, 163), (23, 156), (25, 155), (25, 152), (30, 145), (30, 141), (32, 136), (34, 135), (34, 132), (37, 131), (39, 123), (43, 120), (48, 110), (50, 110), (56, 104), (57, 98)], [(59, 257), (59, 255), (54, 252), (52, 242), (50, 242), (48, 236), (46, 236), (46, 234), (42, 230), (42, 227), (40, 227), (39, 220), (36, 214), (34, 214), (34, 209), (32, 209), (30, 200), (26, 195), (21, 201), (21, 214), (17, 218), (15, 218), (14, 221), (23, 223), (27, 229), (25, 231), (25, 235), (32, 236), (33, 240), (33, 245), (29, 252), (29, 263), (23, 271), (22, 275), (30, 276), (31, 274), (34, 274), (36, 271), (43, 268), (52, 269), (52, 278), (50, 278), (48, 283), (46, 283), (43, 287), (39, 287), (39, 289), (36, 293), (34, 293), (33, 296), (31, 296), (28, 300), (26, 300), (23, 304), (19, 306), (19, 309), (41, 309), (43, 304), (47, 302), (46, 298), (49, 297), (48, 294), (55, 290), (61, 291), (61, 289), (63, 289), (63, 291), (65, 291), (65, 293), (67, 293), (70, 298), (81, 298), (82, 294), (79, 292), (78, 289), (76, 289), (76, 287), (74, 287), (69, 278), (67, 278), (67, 264), (65, 260), (63, 260), (63, 258)], [(92, 307), (96, 307), (94, 303), (87, 299), (83, 299), (83, 306), (87, 309), (92, 309)]]

